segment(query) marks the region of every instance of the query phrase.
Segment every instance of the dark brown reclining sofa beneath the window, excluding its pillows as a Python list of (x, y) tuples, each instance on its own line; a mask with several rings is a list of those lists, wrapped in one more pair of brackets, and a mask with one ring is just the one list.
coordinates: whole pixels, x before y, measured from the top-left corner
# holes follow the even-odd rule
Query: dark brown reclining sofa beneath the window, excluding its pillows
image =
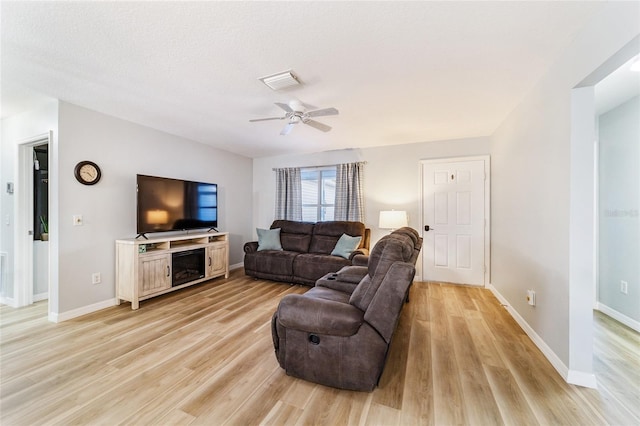
[[(355, 256), (369, 254), (370, 230), (362, 222), (275, 220), (271, 229), (278, 228), (282, 250), (258, 251), (257, 241), (244, 245), (245, 274), (312, 286), (327, 273), (351, 265)], [(360, 246), (349, 259), (331, 255), (343, 234), (362, 237)]]

